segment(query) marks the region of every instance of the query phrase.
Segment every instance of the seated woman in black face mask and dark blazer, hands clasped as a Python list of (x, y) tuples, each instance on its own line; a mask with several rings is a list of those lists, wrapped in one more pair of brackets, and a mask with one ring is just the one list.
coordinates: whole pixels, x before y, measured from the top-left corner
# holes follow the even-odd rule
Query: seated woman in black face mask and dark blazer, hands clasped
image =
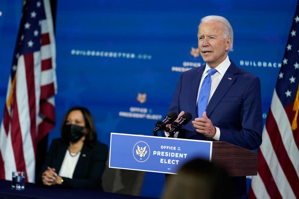
[(69, 109), (61, 137), (52, 141), (37, 180), (47, 186), (102, 190), (108, 148), (97, 141), (91, 113), (82, 107)]

